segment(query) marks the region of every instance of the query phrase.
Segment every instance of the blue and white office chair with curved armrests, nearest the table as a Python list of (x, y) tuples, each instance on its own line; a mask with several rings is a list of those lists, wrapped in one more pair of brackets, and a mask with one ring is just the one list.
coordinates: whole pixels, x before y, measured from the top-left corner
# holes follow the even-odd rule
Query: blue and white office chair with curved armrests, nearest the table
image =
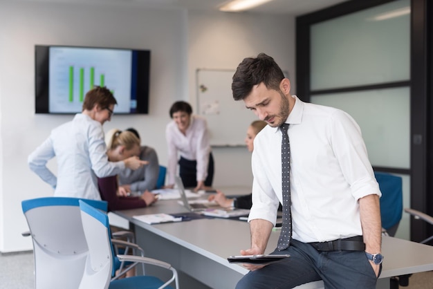
[[(113, 260), (114, 251), (110, 239), (109, 219), (106, 212), (95, 209), (85, 201), (80, 201), (81, 218), (86, 242), (89, 246), (89, 258), (86, 260), (86, 268), (81, 279), (79, 289), (151, 289), (172, 288), (169, 286), (174, 281), (176, 289), (178, 277), (176, 269), (172, 265), (156, 259), (145, 257), (118, 255), (120, 261), (131, 261), (136, 264), (147, 263), (157, 265), (172, 271), (172, 277), (164, 282), (152, 276), (136, 276), (111, 281), (114, 275)], [(132, 268), (133, 266), (129, 267)]]

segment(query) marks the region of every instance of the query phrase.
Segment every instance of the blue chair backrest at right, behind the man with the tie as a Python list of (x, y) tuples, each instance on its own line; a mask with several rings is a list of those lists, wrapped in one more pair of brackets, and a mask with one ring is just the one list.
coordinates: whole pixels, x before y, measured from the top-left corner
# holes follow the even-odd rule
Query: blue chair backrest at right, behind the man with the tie
[(382, 227), (390, 236), (394, 236), (403, 214), (403, 181), (400, 176), (379, 171), (375, 171), (374, 176), (382, 192), (380, 197)]

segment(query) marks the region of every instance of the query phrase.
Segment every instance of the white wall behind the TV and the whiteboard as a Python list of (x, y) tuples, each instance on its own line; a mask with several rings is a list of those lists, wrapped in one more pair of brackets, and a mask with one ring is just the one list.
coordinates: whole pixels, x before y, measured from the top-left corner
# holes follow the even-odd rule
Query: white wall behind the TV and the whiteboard
[[(166, 163), (168, 109), (176, 100), (194, 104), (195, 69), (236, 68), (264, 51), (293, 75), (294, 35), (293, 17), (0, 0), (0, 252), (32, 249), (21, 236), (21, 201), (53, 191), (28, 169), (27, 156), (72, 118), (35, 115), (35, 44), (150, 49), (149, 115), (114, 115), (104, 129), (136, 127)], [(250, 185), (245, 148), (214, 149), (214, 158), (214, 185)], [(55, 171), (55, 161), (50, 167)]]

